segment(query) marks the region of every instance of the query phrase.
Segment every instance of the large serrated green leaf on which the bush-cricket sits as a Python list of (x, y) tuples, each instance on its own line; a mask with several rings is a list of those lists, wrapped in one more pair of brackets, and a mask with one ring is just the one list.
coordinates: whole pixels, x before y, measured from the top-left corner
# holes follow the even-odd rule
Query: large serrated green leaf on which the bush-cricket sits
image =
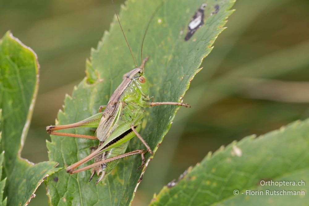
[[(188, 23), (205, 2), (204, 25), (185, 41)], [(159, 6), (143, 46), (144, 57), (150, 57), (145, 74), (154, 101), (182, 100), (191, 80), (200, 70), (201, 61), (210, 53), (214, 40), (224, 30), (226, 18), (233, 12), (230, 10), (233, 4), (231, 0), (172, 0), (163, 1), (162, 4), (159, 1), (142, 0), (126, 2), (120, 13), (120, 21), (138, 64), (141, 62), (140, 48), (146, 25)], [(59, 111), (56, 123), (70, 124), (97, 113), (99, 106), (108, 102), (122, 81), (122, 75), (133, 68), (134, 62), (114, 18), (110, 31), (104, 34), (98, 48), (91, 52), (90, 61), (86, 64), (87, 77), (74, 88), (72, 97), (66, 96), (63, 111)], [(178, 108), (158, 106), (147, 109), (141, 135), (154, 152), (170, 128)], [(94, 134), (89, 128), (68, 129), (66, 132)], [(90, 153), (90, 146), (98, 145), (97, 141), (85, 139), (51, 138), (52, 141), (47, 143), (49, 159), (59, 162), (61, 167), (86, 157)], [(141, 142), (133, 138), (127, 151), (141, 148), (144, 148)], [(149, 162), (149, 154), (146, 158)], [(95, 181), (88, 183), (90, 170), (73, 175), (61, 170), (46, 180), (50, 202), (52, 205), (128, 205), (146, 169), (138, 174), (136, 169), (140, 164), (140, 156), (124, 158), (98, 185), (95, 185)]]

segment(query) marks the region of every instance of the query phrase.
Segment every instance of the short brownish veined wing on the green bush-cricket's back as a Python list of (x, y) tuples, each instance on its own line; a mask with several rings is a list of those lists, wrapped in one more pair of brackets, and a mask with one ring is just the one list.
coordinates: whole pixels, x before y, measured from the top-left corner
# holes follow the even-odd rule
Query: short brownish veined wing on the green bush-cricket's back
[(122, 113), (122, 102), (109, 102), (103, 112), (98, 128), (95, 131), (100, 141), (105, 141), (116, 129)]

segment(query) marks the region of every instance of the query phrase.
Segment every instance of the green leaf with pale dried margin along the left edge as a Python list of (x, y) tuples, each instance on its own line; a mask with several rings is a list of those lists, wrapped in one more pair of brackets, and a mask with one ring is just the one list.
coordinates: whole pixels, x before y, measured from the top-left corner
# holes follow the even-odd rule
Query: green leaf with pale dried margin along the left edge
[(0, 108), (8, 205), (28, 204), (43, 178), (59, 170), (54, 168), (57, 162), (35, 165), (20, 157), (39, 86), (38, 71), (36, 54), (7, 32), (0, 40)]

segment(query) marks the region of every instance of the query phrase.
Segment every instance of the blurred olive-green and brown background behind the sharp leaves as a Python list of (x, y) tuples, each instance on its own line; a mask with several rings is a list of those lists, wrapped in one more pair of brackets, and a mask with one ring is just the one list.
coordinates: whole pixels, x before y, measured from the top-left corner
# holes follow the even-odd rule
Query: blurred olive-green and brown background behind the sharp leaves
[[(123, 0), (115, 3), (119, 10)], [(238, 0), (234, 9), (184, 98), (193, 107), (178, 111), (133, 205), (148, 204), (209, 151), (309, 116), (309, 1)], [(0, 2), (0, 36), (11, 30), (41, 65), (23, 158), (48, 160), (45, 127), (54, 124), (65, 94), (85, 76), (90, 48), (113, 15), (109, 0)], [(45, 193), (42, 184), (29, 205), (48, 205)]]

